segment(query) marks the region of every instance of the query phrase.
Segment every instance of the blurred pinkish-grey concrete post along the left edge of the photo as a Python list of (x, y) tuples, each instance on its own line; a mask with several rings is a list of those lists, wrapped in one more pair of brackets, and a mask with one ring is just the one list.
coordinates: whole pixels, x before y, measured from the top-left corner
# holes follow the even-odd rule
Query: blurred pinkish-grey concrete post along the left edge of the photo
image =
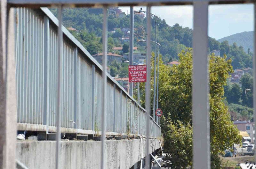
[[(14, 69), (15, 21), (14, 9), (7, 9), (6, 5), (6, 0), (0, 1), (0, 168), (14, 169), (16, 168), (15, 144), (17, 134)], [(8, 17), (9, 19), (7, 19)]]

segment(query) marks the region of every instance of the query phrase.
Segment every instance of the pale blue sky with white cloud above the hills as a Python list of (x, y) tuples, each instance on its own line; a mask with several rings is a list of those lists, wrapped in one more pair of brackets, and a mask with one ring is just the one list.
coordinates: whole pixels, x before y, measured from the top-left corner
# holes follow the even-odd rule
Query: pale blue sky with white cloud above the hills
[[(120, 7), (127, 14), (130, 7)], [(140, 7), (134, 7), (139, 11)], [(146, 11), (146, 7), (143, 7)], [(253, 31), (253, 4), (209, 5), (208, 35), (220, 39), (244, 31)], [(193, 28), (193, 6), (152, 6), (151, 13), (170, 26), (178, 23)]]

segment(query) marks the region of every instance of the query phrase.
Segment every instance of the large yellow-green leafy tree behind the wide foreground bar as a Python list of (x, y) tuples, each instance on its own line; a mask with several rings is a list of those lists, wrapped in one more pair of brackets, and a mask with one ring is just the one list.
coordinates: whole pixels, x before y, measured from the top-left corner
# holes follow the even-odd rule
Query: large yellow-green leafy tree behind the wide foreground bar
[[(188, 48), (186, 51), (182, 51), (179, 57), (180, 64), (178, 66), (168, 67), (167, 65), (161, 65), (159, 68), (159, 107), (164, 112), (164, 117), (161, 119), (161, 127), (165, 150), (169, 149), (170, 147), (168, 145), (171, 145), (173, 142), (173, 140), (168, 139), (170, 136), (167, 135), (172, 124), (178, 124), (180, 121), (183, 126), (188, 128), (189, 125), (192, 125), (192, 49)], [(153, 61), (151, 64), (153, 64)], [(231, 59), (227, 59), (226, 55), (223, 57), (210, 55), (209, 102), (211, 164), (213, 169), (220, 169), (221, 159), (218, 154), (226, 148), (232, 147), (233, 143), (240, 143), (241, 140), (239, 131), (234, 128), (232, 121), (230, 121), (228, 107), (224, 104), (223, 86), (226, 84), (230, 72), (232, 72)], [(151, 78), (153, 78), (153, 70), (151, 70)], [(144, 89), (144, 84), (141, 83), (140, 90), (143, 91)], [(144, 100), (145, 96), (142, 99)], [(179, 125), (177, 127), (179, 128)], [(192, 131), (188, 132), (188, 135), (189, 138), (192, 138)], [(180, 146), (182, 146), (181, 143)], [(189, 142), (185, 143), (183, 149), (190, 146)], [(180, 149), (170, 152), (172, 158), (177, 157), (177, 151), (180, 151)], [(188, 160), (185, 164), (192, 162), (192, 153), (189, 153), (189, 151), (180, 151), (179, 153), (181, 153), (179, 156), (187, 157), (183, 158)], [(179, 165), (175, 167), (185, 168)]]

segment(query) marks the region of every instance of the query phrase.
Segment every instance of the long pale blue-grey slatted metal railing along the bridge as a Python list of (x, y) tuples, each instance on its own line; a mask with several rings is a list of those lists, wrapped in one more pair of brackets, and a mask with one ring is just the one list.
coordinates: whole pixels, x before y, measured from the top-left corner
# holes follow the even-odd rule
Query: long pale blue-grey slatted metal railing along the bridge
[[(61, 132), (100, 134), (101, 65), (62, 26), (58, 89), (57, 18), (47, 8), (17, 8), (15, 15), (18, 130), (55, 132), (57, 90), (61, 90)], [(146, 110), (109, 74), (107, 77), (107, 134), (146, 135)], [(160, 135), (161, 128), (151, 117), (150, 136)]]

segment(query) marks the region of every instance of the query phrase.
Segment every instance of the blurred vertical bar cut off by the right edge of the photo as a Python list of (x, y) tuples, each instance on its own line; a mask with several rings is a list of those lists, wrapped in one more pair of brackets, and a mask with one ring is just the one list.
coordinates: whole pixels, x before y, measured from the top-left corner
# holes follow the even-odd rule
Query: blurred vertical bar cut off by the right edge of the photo
[[(253, 48), (256, 51), (256, 3), (254, 3), (254, 43)], [(253, 121), (256, 120), (256, 54), (253, 52)], [(254, 134), (256, 136), (256, 129), (254, 130)], [(253, 140), (252, 140), (253, 141)], [(254, 141), (253, 141), (254, 142)], [(254, 146), (255, 146), (254, 142)], [(254, 161), (256, 161), (256, 150), (254, 150)]]

